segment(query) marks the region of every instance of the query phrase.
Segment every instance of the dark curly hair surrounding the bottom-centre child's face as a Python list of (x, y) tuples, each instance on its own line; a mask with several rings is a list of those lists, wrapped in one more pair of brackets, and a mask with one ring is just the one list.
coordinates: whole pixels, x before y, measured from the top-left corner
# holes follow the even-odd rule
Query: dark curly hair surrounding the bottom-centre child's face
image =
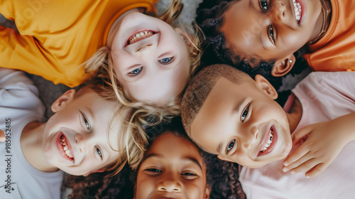
[[(167, 131), (172, 131), (175, 135), (188, 139), (182, 127), (181, 118), (175, 117), (170, 122), (165, 121), (146, 130), (149, 136), (148, 147), (151, 146), (155, 137)], [(239, 169), (236, 163), (221, 161), (217, 156), (207, 154), (202, 150), (200, 150), (200, 154), (207, 166), (207, 184), (212, 188), (209, 198), (246, 198), (238, 180)], [(66, 175), (62, 189), (64, 191), (65, 188), (69, 188), (67, 190), (72, 191), (68, 198), (133, 198), (136, 172), (132, 171), (129, 166), (125, 166), (116, 176), (107, 174), (92, 173), (87, 177)]]

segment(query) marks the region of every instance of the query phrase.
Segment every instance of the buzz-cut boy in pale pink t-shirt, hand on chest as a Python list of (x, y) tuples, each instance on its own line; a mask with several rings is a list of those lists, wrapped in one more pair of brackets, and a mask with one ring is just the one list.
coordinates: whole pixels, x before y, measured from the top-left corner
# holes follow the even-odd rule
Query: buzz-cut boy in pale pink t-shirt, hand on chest
[[(261, 75), (253, 81), (230, 66), (212, 65), (187, 87), (182, 122), (202, 149), (245, 166), (240, 179), (247, 198), (351, 198), (354, 77), (313, 72), (295, 87), (284, 110)], [(308, 177), (322, 173), (307, 179), (298, 173), (303, 171)]]

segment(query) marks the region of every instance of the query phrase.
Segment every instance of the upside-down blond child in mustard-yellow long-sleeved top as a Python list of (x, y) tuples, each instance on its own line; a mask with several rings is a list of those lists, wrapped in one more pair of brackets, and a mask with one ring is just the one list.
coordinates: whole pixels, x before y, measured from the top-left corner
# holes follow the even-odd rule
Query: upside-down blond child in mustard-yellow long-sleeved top
[(100, 48), (133, 99), (165, 104), (182, 92), (198, 55), (187, 33), (169, 24), (182, 2), (173, 1), (158, 18), (146, 15), (155, 16), (156, 2), (1, 1), (0, 13), (15, 21), (19, 33), (0, 26), (0, 65), (75, 87), (97, 73), (95, 63), (89, 73), (79, 65)]

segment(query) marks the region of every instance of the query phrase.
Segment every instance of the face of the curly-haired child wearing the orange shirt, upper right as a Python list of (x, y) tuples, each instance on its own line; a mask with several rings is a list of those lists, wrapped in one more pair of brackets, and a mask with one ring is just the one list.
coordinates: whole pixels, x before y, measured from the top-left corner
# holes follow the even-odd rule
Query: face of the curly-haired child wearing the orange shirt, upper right
[[(224, 13), (221, 31), (228, 48), (262, 60), (285, 60), (311, 40), (322, 14), (320, 1), (241, 0)], [(322, 23), (322, 22), (321, 22)], [(318, 32), (319, 33), (319, 32)]]

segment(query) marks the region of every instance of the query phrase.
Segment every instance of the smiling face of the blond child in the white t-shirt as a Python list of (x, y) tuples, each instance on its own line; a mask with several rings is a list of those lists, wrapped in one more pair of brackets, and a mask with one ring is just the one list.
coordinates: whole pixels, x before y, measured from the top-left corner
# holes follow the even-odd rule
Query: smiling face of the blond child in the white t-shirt
[(110, 123), (114, 102), (88, 88), (80, 92), (80, 96), (75, 90), (65, 92), (53, 103), (55, 114), (45, 124), (43, 138), (48, 162), (75, 176), (104, 171), (117, 160), (121, 124), (118, 119)]

